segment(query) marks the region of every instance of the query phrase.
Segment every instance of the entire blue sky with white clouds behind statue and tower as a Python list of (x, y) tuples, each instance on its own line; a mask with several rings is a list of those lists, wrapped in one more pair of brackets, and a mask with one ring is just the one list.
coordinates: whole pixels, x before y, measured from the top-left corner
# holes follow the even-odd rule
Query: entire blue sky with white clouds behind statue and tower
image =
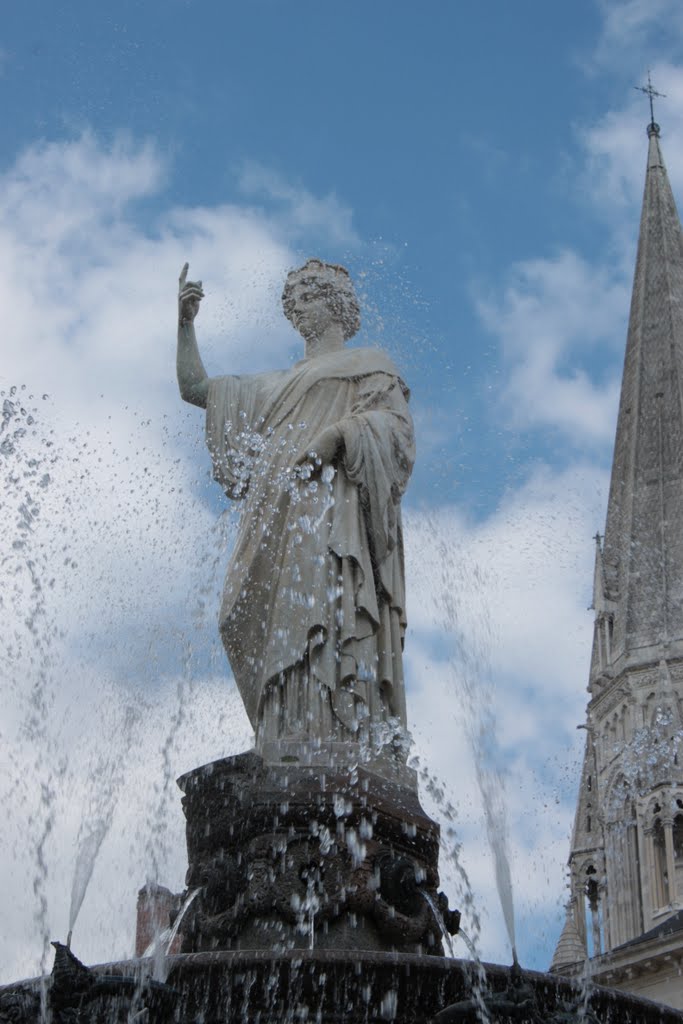
[[(185, 259), (205, 283), (210, 373), (283, 366), (299, 347), (282, 282), (309, 255), (348, 265), (358, 340), (413, 391), (409, 713), (458, 808), (480, 948), (509, 959), (466, 738), (493, 707), (519, 952), (548, 965), (645, 167), (633, 86), (651, 67), (667, 93), (680, 198), (682, 33), (676, 0), (12, 9), (0, 390), (25, 385), (14, 417), (36, 407), (39, 426), (3, 456), (6, 978), (66, 932), (77, 837), (98, 815), (75, 948), (129, 952), (152, 865), (182, 887), (172, 779), (248, 742), (214, 625), (231, 520), (177, 397), (175, 283)], [(27, 494), (39, 514), (16, 548)], [(47, 873), (25, 856), (44, 834)], [(463, 898), (445, 868), (444, 884)]]

